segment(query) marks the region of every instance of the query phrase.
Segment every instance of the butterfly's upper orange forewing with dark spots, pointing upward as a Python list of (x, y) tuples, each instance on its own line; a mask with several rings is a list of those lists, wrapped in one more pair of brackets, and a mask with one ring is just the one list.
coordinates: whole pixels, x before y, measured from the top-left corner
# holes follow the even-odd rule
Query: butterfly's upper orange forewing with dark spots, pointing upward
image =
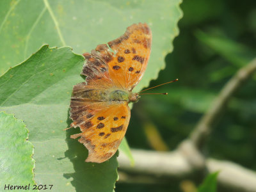
[(147, 24), (133, 24), (124, 35), (108, 42), (113, 52), (103, 44), (98, 45), (92, 54), (108, 65), (109, 77), (116, 86), (131, 91), (147, 68), (151, 41), (152, 33)]

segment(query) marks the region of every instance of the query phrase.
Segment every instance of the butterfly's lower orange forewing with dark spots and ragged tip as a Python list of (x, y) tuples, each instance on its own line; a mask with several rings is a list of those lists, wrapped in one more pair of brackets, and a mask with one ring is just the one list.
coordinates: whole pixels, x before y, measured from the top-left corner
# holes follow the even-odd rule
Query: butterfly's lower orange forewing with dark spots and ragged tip
[[(79, 138), (88, 149), (86, 162), (102, 163), (112, 157), (124, 138), (130, 120), (130, 109), (127, 103), (97, 103), (93, 113), (79, 121), (81, 133), (71, 138)], [(90, 106), (92, 108), (92, 106)]]

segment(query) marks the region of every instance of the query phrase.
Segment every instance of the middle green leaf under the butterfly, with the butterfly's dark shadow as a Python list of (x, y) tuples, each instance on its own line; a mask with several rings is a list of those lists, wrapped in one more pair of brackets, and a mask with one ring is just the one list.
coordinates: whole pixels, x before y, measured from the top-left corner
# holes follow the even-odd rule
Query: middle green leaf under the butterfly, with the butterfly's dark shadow
[[(23, 119), (35, 146), (35, 181), (52, 184), (53, 191), (113, 191), (116, 156), (105, 163), (85, 163), (88, 151), (70, 139), (79, 129), (68, 129), (72, 86), (84, 58), (70, 47), (44, 45), (31, 58), (0, 77), (0, 108)], [(83, 190), (82, 190), (83, 189)]]

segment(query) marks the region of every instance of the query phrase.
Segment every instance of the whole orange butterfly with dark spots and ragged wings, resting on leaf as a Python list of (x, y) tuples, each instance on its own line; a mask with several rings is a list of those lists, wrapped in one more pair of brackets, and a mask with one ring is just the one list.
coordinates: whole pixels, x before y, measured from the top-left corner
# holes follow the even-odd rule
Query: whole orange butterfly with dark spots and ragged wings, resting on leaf
[(70, 138), (88, 149), (86, 162), (102, 163), (118, 149), (129, 125), (132, 89), (141, 81), (150, 56), (152, 33), (147, 24), (132, 24), (124, 35), (83, 54), (85, 82), (76, 84), (70, 102)]

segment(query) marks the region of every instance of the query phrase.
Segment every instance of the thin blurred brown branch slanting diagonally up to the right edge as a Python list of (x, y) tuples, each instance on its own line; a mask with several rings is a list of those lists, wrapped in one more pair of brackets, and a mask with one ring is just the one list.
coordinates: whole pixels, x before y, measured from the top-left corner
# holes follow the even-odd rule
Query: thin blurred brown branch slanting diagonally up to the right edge
[(204, 145), (207, 136), (211, 132), (213, 125), (218, 121), (221, 113), (225, 110), (228, 100), (243, 85), (244, 81), (252, 76), (256, 70), (256, 58), (248, 65), (239, 69), (228, 83), (222, 88), (218, 97), (214, 100), (209, 110), (198, 122), (193, 132), (191, 132), (191, 140), (196, 147), (201, 148)]

